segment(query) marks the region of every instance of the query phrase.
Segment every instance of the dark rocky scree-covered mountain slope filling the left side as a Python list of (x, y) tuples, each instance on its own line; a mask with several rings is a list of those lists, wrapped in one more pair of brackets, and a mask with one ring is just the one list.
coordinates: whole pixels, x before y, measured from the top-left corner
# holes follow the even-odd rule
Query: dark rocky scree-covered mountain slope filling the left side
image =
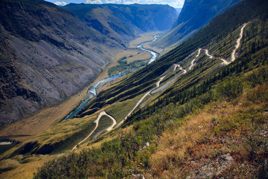
[(46, 1), (1, 1), (0, 8), (0, 122), (78, 92), (123, 48)]

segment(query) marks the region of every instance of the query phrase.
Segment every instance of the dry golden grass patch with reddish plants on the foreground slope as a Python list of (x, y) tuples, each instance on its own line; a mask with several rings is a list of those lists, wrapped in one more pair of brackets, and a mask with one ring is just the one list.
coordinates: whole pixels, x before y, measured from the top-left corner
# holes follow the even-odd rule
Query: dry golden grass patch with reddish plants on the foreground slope
[[(250, 107), (260, 109), (266, 105), (265, 102), (258, 104), (247, 101), (246, 91), (244, 90), (244, 94), (235, 102), (212, 102), (206, 105), (201, 112), (190, 114), (184, 118), (185, 121), (174, 124), (174, 128), (166, 129), (161, 137), (156, 138), (158, 148), (150, 158), (152, 172), (148, 172), (144, 177), (152, 178), (153, 173), (157, 175), (157, 178), (185, 178), (191, 176), (191, 172), (198, 170), (199, 165), (207, 164), (209, 158), (217, 156), (214, 153), (216, 149), (227, 152), (233, 150), (232, 145), (237, 144), (234, 139), (239, 138), (241, 131), (223, 134), (225, 140), (226, 135), (229, 135), (227, 136), (229, 141), (221, 144), (217, 142), (214, 126), (218, 125), (222, 118), (228, 118), (228, 116), (233, 116)], [(223, 136), (219, 138), (221, 139)], [(243, 145), (239, 147), (243, 148)], [(242, 155), (241, 153), (239, 155)], [(192, 168), (187, 168), (188, 165), (186, 166), (185, 163), (189, 161), (200, 163), (197, 166), (190, 165)]]

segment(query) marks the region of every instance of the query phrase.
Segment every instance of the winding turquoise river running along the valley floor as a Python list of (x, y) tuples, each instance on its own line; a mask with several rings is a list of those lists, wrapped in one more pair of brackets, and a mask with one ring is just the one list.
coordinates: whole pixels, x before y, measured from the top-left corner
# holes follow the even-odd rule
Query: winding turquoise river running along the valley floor
[[(152, 41), (155, 41), (155, 40), (157, 39), (156, 36), (154, 36), (154, 38), (155, 38), (155, 39), (152, 40)], [(148, 64), (150, 64), (150, 63), (152, 63), (153, 61), (155, 61), (157, 53), (142, 48), (142, 45), (143, 45), (144, 43), (145, 43), (145, 42), (139, 44), (139, 45), (137, 46), (137, 48), (140, 48), (141, 50), (147, 51), (147, 52), (149, 52), (149, 53), (152, 54), (152, 58), (151, 58), (150, 61), (148, 62)], [(80, 104), (80, 106), (79, 106), (74, 112), (72, 112), (71, 114), (69, 114), (64, 120), (70, 119), (71, 117), (73, 117), (74, 115), (76, 115), (77, 112), (79, 112), (79, 111), (80, 111), (80, 110), (81, 110), (81, 109), (88, 103), (88, 101), (89, 101), (91, 98), (93, 98), (94, 96), (96, 96), (96, 94), (97, 94), (97, 93), (96, 93), (96, 88), (97, 88), (100, 84), (102, 84), (102, 83), (104, 83), (104, 82), (107, 82), (107, 81), (114, 80), (114, 79), (116, 79), (116, 78), (118, 78), (118, 77), (120, 77), (120, 76), (122, 76), (122, 75), (126, 75), (126, 74), (132, 73), (132, 72), (134, 72), (134, 71), (135, 71), (135, 70), (132, 70), (132, 71), (129, 71), (129, 72), (120, 73), (120, 74), (118, 74), (118, 75), (109, 76), (109, 77), (107, 77), (107, 78), (104, 78), (104, 79), (98, 81), (96, 84), (94, 84), (94, 85), (88, 90), (89, 97), (86, 98), (84, 101), (82, 101), (82, 103)]]

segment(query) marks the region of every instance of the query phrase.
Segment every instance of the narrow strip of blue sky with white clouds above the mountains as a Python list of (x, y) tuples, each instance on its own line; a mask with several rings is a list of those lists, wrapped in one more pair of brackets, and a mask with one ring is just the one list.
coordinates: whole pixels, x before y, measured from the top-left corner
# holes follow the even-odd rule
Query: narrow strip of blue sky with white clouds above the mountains
[(66, 5), (69, 3), (86, 3), (86, 4), (104, 4), (104, 3), (113, 3), (113, 4), (169, 4), (172, 7), (180, 8), (183, 7), (184, 0), (48, 0), (57, 5)]

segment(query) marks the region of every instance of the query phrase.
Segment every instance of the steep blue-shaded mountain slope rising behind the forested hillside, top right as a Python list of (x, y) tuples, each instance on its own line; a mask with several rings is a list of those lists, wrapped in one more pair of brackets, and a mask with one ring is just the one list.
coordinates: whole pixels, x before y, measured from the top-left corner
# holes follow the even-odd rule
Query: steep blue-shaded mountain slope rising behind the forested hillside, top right
[(185, 39), (192, 36), (200, 28), (204, 27), (218, 14), (240, 2), (241, 0), (186, 0), (177, 21), (172, 30), (161, 37), (154, 45), (164, 47), (175, 47)]

